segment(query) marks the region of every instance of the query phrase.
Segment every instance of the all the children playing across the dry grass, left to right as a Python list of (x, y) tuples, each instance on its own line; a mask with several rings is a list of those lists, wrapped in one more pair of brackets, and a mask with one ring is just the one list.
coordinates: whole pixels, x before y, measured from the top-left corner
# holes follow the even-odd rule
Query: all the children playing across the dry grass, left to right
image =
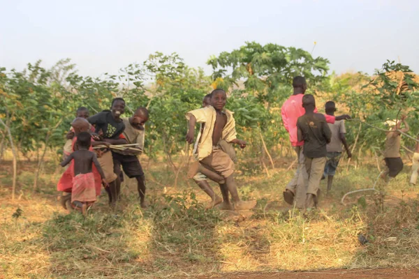
[[(336, 105), (325, 104), (326, 114), (319, 114), (314, 96), (307, 94), (304, 77), (293, 79), (293, 95), (281, 107), (284, 126), (288, 131), (293, 149), (297, 153), (297, 171), (284, 191), (284, 200), (300, 209), (317, 206), (322, 179), (328, 179), (327, 191), (332, 188), (333, 177), (342, 154), (342, 146), (348, 158), (352, 154), (346, 142), (344, 114), (335, 116)], [(256, 206), (256, 200), (240, 199), (235, 183), (235, 151), (233, 144), (244, 149), (247, 143), (237, 139), (233, 112), (226, 110), (226, 91), (216, 89), (203, 99), (198, 110), (186, 114), (189, 130), (186, 142), (194, 144), (193, 156), (188, 177), (211, 198), (206, 207), (218, 206), (221, 210), (245, 210)], [(122, 98), (112, 100), (111, 110), (89, 117), (85, 107), (81, 107), (68, 133), (62, 166), (71, 164), (61, 177), (58, 190), (67, 193), (63, 201), (71, 195), (71, 206), (85, 213), (87, 206), (96, 201), (101, 191), (101, 183), (115, 206), (121, 187), (121, 167), (130, 178), (138, 182), (140, 204), (145, 201), (145, 175), (138, 156), (144, 146), (144, 125), (149, 119), (147, 109), (139, 107), (130, 118), (120, 118), (124, 113)], [(194, 141), (195, 126), (200, 123), (198, 137)], [(404, 128), (401, 124), (404, 123)], [(382, 177), (385, 181), (394, 178), (402, 170), (400, 158), (400, 135), (409, 130), (406, 116), (388, 131), (385, 140), (385, 164), (387, 169)], [(419, 140), (419, 137), (418, 137)], [(120, 149), (115, 146), (135, 144), (135, 148)], [(92, 146), (96, 146), (94, 149)], [(113, 146), (113, 147), (112, 147)], [(413, 155), (411, 183), (416, 184), (419, 169), (419, 144)], [(123, 177), (123, 176), (122, 176)], [(222, 198), (214, 193), (207, 179), (219, 184)], [(230, 200), (231, 195), (231, 200)], [(65, 198), (66, 197), (66, 198)], [(63, 205), (68, 207), (66, 202)]]

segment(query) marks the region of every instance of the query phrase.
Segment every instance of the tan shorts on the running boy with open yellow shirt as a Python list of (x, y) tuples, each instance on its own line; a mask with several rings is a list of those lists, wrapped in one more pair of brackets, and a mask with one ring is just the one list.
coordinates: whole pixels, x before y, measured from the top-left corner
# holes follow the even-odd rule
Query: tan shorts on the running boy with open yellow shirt
[(211, 155), (203, 158), (200, 163), (214, 169), (225, 179), (234, 172), (233, 160), (231, 160), (227, 153), (216, 146), (212, 147)]

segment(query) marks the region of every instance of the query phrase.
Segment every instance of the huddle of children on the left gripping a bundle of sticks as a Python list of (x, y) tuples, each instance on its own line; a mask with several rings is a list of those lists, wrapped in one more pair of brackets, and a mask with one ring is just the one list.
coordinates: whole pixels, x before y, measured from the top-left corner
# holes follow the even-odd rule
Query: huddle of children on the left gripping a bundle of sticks
[(124, 111), (122, 98), (115, 98), (110, 110), (94, 116), (89, 116), (85, 107), (78, 109), (66, 136), (61, 163), (69, 167), (57, 185), (57, 190), (63, 192), (64, 208), (86, 213), (100, 195), (101, 185), (105, 186), (110, 205), (115, 206), (121, 188), (121, 167), (128, 177), (137, 180), (140, 205), (147, 207), (145, 175), (138, 155), (144, 146), (144, 125), (149, 114), (145, 107), (139, 107), (133, 116), (121, 118)]

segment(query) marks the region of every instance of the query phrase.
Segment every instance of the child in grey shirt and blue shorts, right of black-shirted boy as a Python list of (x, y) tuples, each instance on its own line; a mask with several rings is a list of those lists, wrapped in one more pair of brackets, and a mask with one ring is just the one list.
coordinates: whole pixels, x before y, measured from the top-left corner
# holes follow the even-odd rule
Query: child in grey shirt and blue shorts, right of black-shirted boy
[[(332, 102), (331, 100), (326, 102), (325, 112), (328, 115), (335, 116), (335, 102)], [(344, 120), (337, 120), (334, 124), (328, 123), (328, 126), (332, 132), (332, 138), (330, 139), (330, 143), (326, 146), (328, 154), (326, 156), (327, 161), (325, 165), (325, 172), (323, 174), (323, 178), (328, 177), (327, 193), (329, 193), (329, 191), (332, 189), (333, 176), (335, 176), (337, 165), (339, 165), (339, 160), (342, 154), (342, 144), (345, 146), (348, 158), (352, 157), (351, 150), (349, 150), (348, 143), (346, 143), (346, 128)]]

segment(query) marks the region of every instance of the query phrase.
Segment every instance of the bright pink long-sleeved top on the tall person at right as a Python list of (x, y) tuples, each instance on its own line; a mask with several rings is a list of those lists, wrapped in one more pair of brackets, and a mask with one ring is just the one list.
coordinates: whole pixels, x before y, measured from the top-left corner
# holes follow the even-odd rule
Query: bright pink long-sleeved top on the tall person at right
[[(302, 146), (304, 142), (297, 140), (297, 119), (305, 113), (302, 107), (302, 96), (304, 94), (291, 95), (281, 107), (282, 121), (290, 135), (290, 141), (293, 146)], [(317, 109), (314, 110), (317, 112)], [(325, 114), (328, 123), (335, 123), (335, 116)]]

